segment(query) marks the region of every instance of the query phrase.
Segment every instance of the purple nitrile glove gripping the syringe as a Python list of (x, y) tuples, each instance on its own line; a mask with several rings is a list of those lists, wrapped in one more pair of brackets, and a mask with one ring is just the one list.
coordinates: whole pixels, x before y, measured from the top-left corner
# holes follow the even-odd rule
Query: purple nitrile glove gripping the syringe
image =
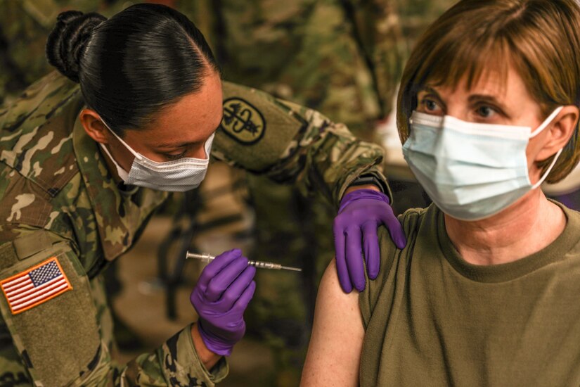
[(230, 355), (245, 334), (244, 311), (256, 283), (256, 268), (238, 248), (218, 255), (203, 269), (190, 300), (198, 312), (200, 336), (207, 349)]

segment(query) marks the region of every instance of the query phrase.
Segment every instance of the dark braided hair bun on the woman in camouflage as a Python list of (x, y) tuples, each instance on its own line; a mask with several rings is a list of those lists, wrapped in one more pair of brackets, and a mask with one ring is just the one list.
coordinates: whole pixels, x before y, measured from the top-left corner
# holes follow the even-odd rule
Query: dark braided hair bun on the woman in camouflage
[(46, 40), (46, 58), (56, 69), (79, 82), (80, 62), (93, 29), (107, 20), (95, 12), (61, 12), (56, 25)]

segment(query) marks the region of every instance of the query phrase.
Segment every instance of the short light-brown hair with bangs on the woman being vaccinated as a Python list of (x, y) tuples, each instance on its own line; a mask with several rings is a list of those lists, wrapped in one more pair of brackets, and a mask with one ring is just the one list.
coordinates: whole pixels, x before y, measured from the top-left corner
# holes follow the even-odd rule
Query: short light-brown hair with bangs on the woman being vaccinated
[[(561, 105), (580, 107), (578, 0), (461, 0), (419, 39), (406, 64), (398, 96), (397, 127), (408, 138), (411, 112), (426, 82), (468, 88), (482, 74), (507, 77), (513, 65), (544, 118)], [(546, 179), (563, 179), (580, 159), (578, 126)], [(539, 163), (545, 170), (551, 156)]]

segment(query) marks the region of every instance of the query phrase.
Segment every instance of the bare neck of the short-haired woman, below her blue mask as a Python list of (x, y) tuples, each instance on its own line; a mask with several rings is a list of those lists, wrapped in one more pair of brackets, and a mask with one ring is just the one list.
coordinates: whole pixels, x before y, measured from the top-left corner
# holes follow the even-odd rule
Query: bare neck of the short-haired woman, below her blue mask
[(562, 209), (541, 189), (529, 191), (502, 212), (476, 222), (445, 216), (445, 228), (461, 257), (474, 265), (498, 265), (545, 248), (566, 227)]

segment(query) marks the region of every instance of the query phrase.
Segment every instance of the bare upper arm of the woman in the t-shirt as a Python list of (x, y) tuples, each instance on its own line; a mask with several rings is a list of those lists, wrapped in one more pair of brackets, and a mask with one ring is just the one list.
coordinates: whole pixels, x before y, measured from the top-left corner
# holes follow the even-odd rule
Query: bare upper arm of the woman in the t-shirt
[(322, 277), (301, 386), (358, 386), (363, 346), (359, 293), (344, 293), (335, 261)]

